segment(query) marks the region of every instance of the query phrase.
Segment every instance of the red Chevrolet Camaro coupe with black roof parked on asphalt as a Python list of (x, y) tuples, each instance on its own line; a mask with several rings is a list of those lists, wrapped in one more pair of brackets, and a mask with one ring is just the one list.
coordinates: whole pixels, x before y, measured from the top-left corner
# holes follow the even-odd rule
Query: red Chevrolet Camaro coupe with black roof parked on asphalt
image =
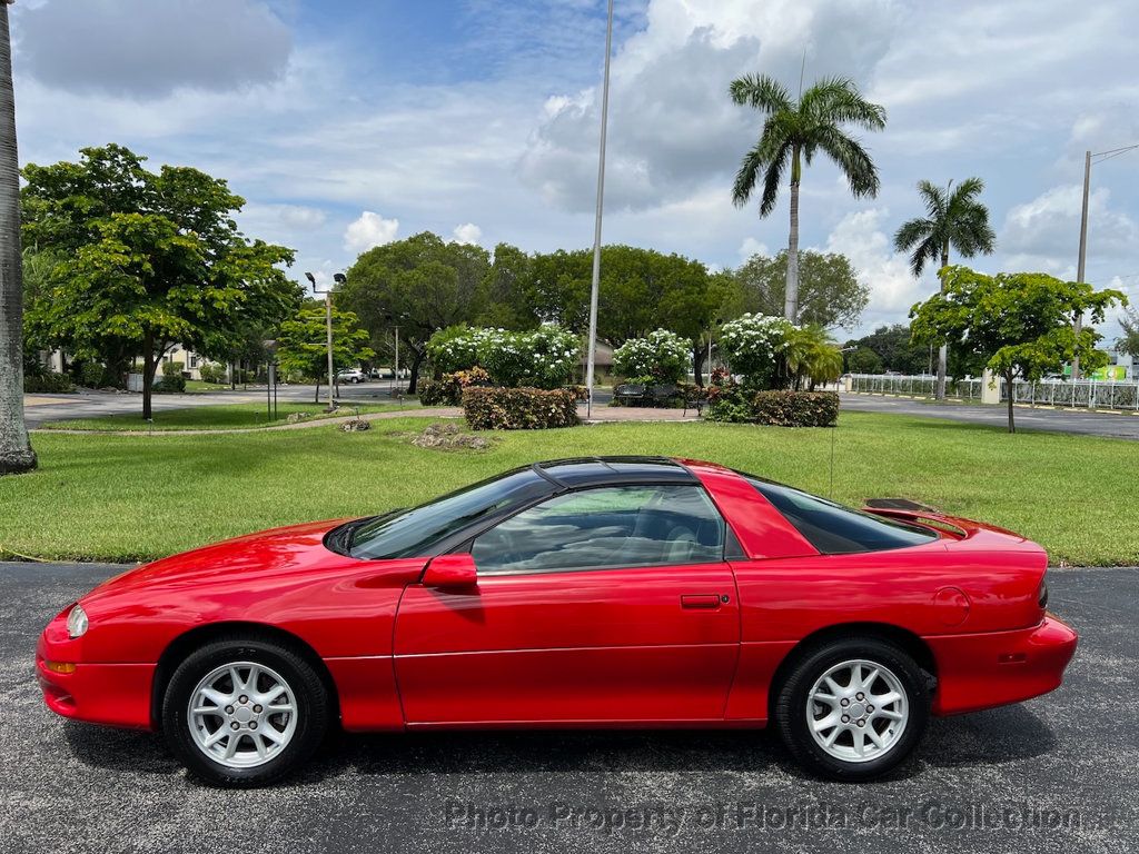
[(48, 624), (36, 673), (52, 711), (161, 730), (230, 786), (336, 723), (772, 722), (811, 771), (866, 780), (931, 714), (1059, 685), (1076, 635), (1046, 567), (1007, 531), (706, 462), (559, 460), (132, 569)]

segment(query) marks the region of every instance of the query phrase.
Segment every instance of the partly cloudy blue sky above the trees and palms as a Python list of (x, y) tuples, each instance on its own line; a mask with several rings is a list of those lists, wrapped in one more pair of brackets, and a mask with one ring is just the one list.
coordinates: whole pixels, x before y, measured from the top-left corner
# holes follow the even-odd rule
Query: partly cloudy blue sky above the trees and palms
[[(1139, 143), (1139, 0), (616, 0), (606, 243), (711, 268), (787, 241), (731, 182), (760, 117), (730, 81), (853, 79), (888, 121), (859, 136), (882, 176), (854, 199), (819, 158), (801, 245), (870, 288), (851, 334), (934, 291), (892, 236), (921, 179), (977, 175), (986, 272), (1075, 278), (1085, 150)], [(424, 230), (493, 249), (592, 243), (604, 0), (19, 0), (23, 163), (120, 142), (229, 181), (249, 237), (321, 281)], [(1139, 299), (1139, 150), (1092, 169), (1089, 281)], [(1105, 325), (1117, 334), (1114, 318)]]

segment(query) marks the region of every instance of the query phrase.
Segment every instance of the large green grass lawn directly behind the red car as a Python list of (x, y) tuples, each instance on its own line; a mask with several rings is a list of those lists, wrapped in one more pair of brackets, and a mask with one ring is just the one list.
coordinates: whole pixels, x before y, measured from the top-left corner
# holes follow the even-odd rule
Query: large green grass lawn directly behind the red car
[(0, 556), (154, 558), (273, 525), (405, 507), (579, 454), (689, 455), (826, 495), (834, 440), (839, 501), (906, 496), (1018, 531), (1052, 563), (1139, 564), (1139, 446), (1122, 440), (844, 412), (834, 430), (612, 424), (489, 434), (490, 450), (440, 451), (408, 441), (427, 424), (398, 418), (360, 434), (39, 433), (40, 469), (0, 478)]

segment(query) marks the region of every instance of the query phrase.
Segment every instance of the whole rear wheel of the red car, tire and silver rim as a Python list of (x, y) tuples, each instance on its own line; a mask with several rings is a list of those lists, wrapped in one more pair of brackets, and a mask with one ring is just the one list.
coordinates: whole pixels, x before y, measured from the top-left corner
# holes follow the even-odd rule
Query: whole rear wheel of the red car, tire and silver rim
[(931, 679), (898, 647), (852, 638), (792, 667), (775, 717), (788, 749), (833, 780), (871, 780), (900, 765), (929, 720)]

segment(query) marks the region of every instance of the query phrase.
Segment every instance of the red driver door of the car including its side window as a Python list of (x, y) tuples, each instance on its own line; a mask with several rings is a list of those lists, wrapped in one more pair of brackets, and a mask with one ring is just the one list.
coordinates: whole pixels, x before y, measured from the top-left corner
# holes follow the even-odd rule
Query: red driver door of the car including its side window
[(722, 720), (739, 651), (726, 526), (698, 485), (558, 495), (473, 540), (475, 586), (412, 584), (410, 725)]

